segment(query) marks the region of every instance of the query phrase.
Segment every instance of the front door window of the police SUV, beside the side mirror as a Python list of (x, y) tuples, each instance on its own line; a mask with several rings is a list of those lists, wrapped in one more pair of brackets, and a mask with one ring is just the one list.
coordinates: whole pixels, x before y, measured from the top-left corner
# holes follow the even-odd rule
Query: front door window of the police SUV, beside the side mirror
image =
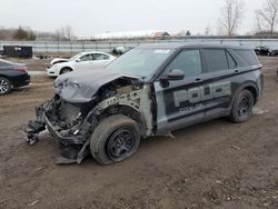
[(182, 70), (186, 77), (201, 73), (201, 58), (199, 50), (181, 51), (166, 68), (166, 72), (173, 69)]

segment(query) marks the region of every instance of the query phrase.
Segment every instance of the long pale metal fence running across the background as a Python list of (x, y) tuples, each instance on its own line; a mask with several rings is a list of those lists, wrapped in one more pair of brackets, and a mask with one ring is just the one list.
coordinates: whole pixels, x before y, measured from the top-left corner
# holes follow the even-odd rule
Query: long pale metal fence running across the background
[(202, 38), (179, 38), (163, 40), (118, 40), (118, 41), (0, 41), (0, 50), (3, 46), (29, 46), (34, 53), (78, 53), (82, 51), (111, 52), (115, 48), (123, 47), (131, 49), (142, 43), (157, 42), (211, 42), (230, 43), (244, 46), (269, 46), (278, 47), (278, 39), (202, 39)]

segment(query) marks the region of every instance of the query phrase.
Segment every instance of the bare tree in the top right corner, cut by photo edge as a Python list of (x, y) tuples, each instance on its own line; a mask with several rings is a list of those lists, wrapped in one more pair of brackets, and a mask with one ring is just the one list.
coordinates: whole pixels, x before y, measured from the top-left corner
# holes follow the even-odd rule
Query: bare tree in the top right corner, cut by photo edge
[(257, 10), (258, 14), (262, 18), (267, 24), (267, 30), (270, 34), (275, 31), (275, 26), (278, 18), (278, 0), (266, 0), (262, 10)]

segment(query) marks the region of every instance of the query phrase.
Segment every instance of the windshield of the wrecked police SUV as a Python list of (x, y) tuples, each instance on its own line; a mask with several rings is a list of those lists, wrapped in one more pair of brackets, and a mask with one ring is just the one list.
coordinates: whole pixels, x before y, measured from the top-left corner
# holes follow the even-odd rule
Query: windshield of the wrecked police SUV
[(156, 72), (171, 52), (169, 49), (132, 49), (107, 68), (146, 79)]

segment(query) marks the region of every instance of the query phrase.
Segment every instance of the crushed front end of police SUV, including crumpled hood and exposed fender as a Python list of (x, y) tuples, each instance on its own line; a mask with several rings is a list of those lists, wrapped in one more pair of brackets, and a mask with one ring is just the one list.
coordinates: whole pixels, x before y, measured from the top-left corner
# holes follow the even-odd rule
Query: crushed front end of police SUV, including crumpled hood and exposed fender
[(99, 72), (93, 77), (59, 77), (54, 97), (36, 108), (36, 120), (24, 129), (29, 145), (41, 131), (50, 132), (61, 150), (58, 163), (80, 163), (90, 153), (95, 128), (111, 115), (122, 113), (138, 121), (142, 136), (152, 133), (150, 86), (122, 74)]

